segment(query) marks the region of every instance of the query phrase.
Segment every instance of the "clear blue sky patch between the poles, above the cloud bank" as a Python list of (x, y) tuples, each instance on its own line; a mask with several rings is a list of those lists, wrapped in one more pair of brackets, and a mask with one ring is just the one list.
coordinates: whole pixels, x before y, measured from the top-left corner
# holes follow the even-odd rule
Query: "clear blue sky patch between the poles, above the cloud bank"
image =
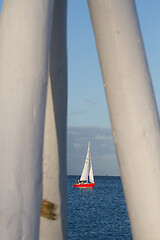
[(68, 1), (68, 125), (109, 126), (87, 1)]

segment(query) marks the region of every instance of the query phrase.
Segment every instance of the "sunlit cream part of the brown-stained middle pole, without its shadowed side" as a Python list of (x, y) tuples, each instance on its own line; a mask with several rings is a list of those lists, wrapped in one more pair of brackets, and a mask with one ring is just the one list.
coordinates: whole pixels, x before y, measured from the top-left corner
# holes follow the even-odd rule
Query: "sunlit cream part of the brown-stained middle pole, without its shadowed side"
[[(59, 159), (53, 98), (50, 79), (48, 82), (44, 147), (43, 147), (43, 200), (50, 202), (53, 208), (43, 206), (40, 219), (40, 240), (62, 239), (59, 190)], [(48, 205), (48, 204), (47, 204)], [(48, 205), (50, 206), (50, 205)], [(46, 208), (48, 215), (44, 215)], [(47, 210), (48, 209), (48, 210)]]

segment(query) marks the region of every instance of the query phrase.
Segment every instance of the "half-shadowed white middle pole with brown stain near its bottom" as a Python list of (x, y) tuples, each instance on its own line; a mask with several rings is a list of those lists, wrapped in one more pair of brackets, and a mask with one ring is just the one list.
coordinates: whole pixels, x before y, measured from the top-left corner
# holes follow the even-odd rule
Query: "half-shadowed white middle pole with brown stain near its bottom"
[[(50, 204), (53, 203), (55, 209), (52, 209), (52, 219), (52, 215), (43, 215), (41, 217), (41, 240), (68, 239), (66, 195), (66, 14), (67, 1), (55, 0), (43, 153), (43, 199)], [(42, 207), (45, 210), (45, 206)], [(51, 212), (51, 209), (49, 212)]]

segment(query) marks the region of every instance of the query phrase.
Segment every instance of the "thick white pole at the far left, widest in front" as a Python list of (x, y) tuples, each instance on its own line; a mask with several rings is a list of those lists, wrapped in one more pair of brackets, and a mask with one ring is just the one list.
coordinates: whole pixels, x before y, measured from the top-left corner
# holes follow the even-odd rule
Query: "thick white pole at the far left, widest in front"
[(5, 0), (0, 16), (0, 239), (39, 235), (53, 0)]

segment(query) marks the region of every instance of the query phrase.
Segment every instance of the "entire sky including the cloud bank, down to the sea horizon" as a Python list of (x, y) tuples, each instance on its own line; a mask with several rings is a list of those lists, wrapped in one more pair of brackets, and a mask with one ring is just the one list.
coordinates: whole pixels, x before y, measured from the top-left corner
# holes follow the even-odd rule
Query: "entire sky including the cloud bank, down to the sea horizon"
[[(160, 111), (160, 1), (136, 0), (147, 61)], [(2, 0), (0, 0), (0, 7)], [(119, 175), (96, 43), (86, 0), (68, 0), (67, 172), (79, 175), (91, 140), (95, 175)]]

